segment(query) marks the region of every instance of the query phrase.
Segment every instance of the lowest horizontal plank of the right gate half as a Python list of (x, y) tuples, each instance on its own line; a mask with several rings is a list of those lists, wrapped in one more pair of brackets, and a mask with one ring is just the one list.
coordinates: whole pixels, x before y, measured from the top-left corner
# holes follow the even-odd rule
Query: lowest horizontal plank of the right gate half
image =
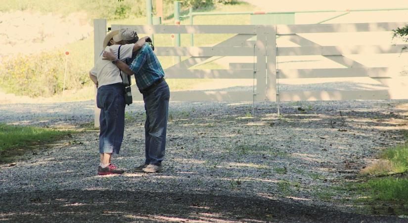
[(387, 100), (387, 90), (279, 92), (280, 101)]

